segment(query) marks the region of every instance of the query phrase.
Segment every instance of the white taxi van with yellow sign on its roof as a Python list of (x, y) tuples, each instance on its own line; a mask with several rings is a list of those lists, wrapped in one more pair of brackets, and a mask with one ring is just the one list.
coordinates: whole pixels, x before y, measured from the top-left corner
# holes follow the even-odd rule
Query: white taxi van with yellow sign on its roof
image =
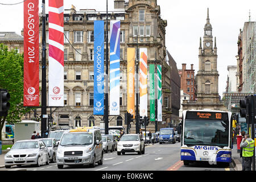
[(103, 148), (100, 129), (74, 129), (64, 133), (57, 150), (57, 167), (103, 164)]

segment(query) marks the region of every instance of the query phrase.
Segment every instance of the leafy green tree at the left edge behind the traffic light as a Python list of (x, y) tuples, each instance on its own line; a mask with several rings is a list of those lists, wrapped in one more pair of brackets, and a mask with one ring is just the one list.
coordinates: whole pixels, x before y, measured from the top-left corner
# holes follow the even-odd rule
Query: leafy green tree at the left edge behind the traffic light
[(23, 55), (16, 49), (8, 51), (7, 46), (0, 44), (0, 88), (10, 93), (10, 110), (7, 117), (0, 117), (0, 140), (5, 121), (20, 122), (22, 116), (30, 109), (23, 107)]

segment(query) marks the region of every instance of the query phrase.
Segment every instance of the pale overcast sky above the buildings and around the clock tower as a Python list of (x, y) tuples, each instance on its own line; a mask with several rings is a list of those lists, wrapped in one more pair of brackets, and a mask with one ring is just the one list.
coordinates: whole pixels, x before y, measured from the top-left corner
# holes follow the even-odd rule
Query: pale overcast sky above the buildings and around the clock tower
[[(0, 0), (0, 32), (12, 31), (20, 35), (23, 28), (23, 3), (18, 5), (1, 5), (1, 3), (18, 3), (22, 0)], [(158, 0), (162, 19), (167, 20), (166, 47), (181, 69), (181, 64), (187, 63), (187, 68), (194, 64), (196, 72), (199, 68), (199, 40), (204, 36), (204, 25), (209, 7), (210, 23), (213, 27), (213, 37), (217, 39), (219, 93), (226, 88), (228, 65), (236, 65), (237, 40), (240, 28), (249, 21), (256, 20), (255, 0)], [(42, 1), (39, 0), (39, 5)], [(79, 9), (96, 9), (106, 11), (106, 0), (64, 0), (64, 9), (74, 5)], [(109, 11), (114, 10), (114, 0), (108, 0)], [(46, 0), (46, 11), (48, 0)], [(40, 7), (40, 12), (42, 8)], [(48, 12), (48, 11), (47, 11)]]

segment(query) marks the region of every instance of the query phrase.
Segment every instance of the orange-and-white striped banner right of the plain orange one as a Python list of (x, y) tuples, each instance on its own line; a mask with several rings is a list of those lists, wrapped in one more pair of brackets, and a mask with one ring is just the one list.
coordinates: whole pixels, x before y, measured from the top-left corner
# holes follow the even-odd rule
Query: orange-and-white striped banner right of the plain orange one
[(147, 48), (140, 48), (139, 55), (139, 115), (147, 117)]

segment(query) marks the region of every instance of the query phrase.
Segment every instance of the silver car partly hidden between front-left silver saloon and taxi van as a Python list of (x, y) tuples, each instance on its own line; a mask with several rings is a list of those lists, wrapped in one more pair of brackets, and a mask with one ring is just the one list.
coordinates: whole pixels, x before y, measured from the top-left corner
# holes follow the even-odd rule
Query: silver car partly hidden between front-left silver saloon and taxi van
[(51, 163), (55, 163), (59, 142), (55, 138), (40, 138), (36, 140), (42, 140), (46, 144), (49, 152), (49, 160)]

